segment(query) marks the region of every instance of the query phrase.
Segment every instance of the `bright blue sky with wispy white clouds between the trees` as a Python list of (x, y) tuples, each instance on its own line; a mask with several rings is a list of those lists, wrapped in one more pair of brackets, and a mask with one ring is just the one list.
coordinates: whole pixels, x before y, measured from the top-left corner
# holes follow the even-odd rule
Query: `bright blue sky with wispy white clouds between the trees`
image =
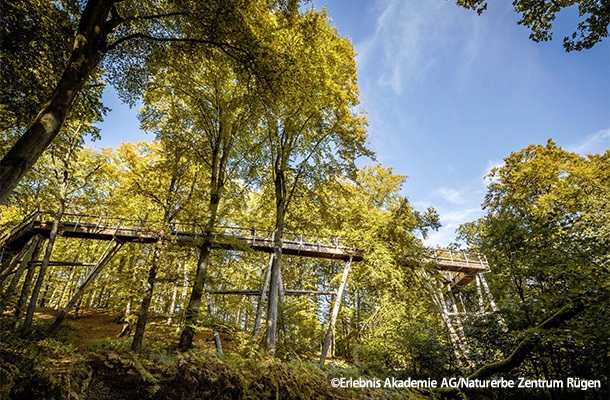
[[(609, 42), (565, 53), (575, 8), (559, 14), (555, 40), (534, 43), (509, 2), (481, 16), (445, 0), (313, 4), (354, 43), (377, 161), (409, 176), (403, 194), (417, 209), (440, 214), (430, 245), (483, 214), (483, 177), (511, 151), (548, 138), (581, 154), (610, 149)], [(113, 111), (96, 147), (152, 139), (112, 90), (105, 102)]]

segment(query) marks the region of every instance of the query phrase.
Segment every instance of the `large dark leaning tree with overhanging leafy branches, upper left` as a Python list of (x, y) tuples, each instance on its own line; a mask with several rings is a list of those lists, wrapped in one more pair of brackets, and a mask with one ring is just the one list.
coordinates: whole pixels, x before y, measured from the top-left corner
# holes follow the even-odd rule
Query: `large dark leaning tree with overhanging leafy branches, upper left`
[[(47, 6), (55, 7), (51, 2)], [(79, 20), (72, 50), (59, 80), (50, 85), (53, 89), (40, 111), (0, 162), (0, 202), (57, 136), (79, 93), (108, 54), (113, 57), (108, 59), (106, 68), (115, 77), (114, 82), (133, 96), (141, 90), (139, 82), (145, 80), (146, 71), (140, 68), (136, 74), (129, 74), (134, 69), (129, 66), (143, 65), (152, 48), (170, 42), (219, 48), (243, 68), (273, 79), (273, 64), (263, 65), (272, 58), (267, 57), (265, 43), (259, 40), (259, 30), (271, 10), (294, 13), (298, 2), (89, 0), (82, 9), (72, 1), (60, 6)], [(124, 78), (125, 74), (130, 77), (128, 81), (116, 78)]]

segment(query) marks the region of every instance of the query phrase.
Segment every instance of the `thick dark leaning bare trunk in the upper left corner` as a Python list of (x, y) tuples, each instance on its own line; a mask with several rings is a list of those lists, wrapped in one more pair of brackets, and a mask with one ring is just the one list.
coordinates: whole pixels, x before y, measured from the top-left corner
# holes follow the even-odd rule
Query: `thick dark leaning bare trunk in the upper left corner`
[(0, 203), (15, 189), (59, 133), (83, 86), (102, 59), (112, 29), (108, 15), (115, 0), (85, 5), (63, 75), (34, 122), (0, 162)]

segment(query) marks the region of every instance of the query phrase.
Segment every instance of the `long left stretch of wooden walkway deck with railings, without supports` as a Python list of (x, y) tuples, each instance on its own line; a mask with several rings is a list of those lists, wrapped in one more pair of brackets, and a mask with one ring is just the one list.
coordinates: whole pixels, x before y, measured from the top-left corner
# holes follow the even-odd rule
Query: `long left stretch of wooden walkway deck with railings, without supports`
[[(36, 234), (48, 237), (53, 226), (53, 215), (35, 213), (0, 241), (4, 251), (19, 251)], [(154, 243), (159, 232), (166, 232), (168, 240), (178, 243), (194, 243), (201, 238), (202, 230), (195, 224), (170, 223), (162, 226), (159, 221), (140, 219), (99, 217), (66, 214), (59, 226), (63, 237), (112, 240), (122, 243)], [(266, 229), (221, 226), (214, 233), (214, 247), (222, 249), (247, 249), (273, 253), (274, 232)], [(312, 258), (362, 261), (364, 252), (347, 246), (337, 237), (285, 232), (282, 253)]]

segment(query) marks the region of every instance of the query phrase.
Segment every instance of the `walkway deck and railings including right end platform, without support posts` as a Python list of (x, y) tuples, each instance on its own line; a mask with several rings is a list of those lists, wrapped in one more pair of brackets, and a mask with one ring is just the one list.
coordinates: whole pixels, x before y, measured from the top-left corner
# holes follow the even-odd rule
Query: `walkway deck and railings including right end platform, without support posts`
[[(4, 252), (16, 253), (34, 236), (48, 237), (53, 226), (53, 213), (36, 212), (24, 219), (0, 239)], [(203, 229), (194, 223), (170, 222), (137, 218), (117, 218), (83, 214), (64, 214), (59, 234), (64, 237), (117, 240), (121, 243), (154, 243), (161, 235), (167, 240), (193, 244), (202, 237)], [(219, 226), (214, 232), (214, 247), (222, 249), (251, 248), (273, 253), (275, 232), (268, 229)], [(364, 251), (348, 245), (343, 238), (285, 232), (282, 253), (312, 258), (362, 261)], [(456, 252), (448, 249), (431, 251), (427, 261), (432, 261), (443, 274), (452, 291), (471, 283), (477, 274), (489, 270), (485, 256)]]

